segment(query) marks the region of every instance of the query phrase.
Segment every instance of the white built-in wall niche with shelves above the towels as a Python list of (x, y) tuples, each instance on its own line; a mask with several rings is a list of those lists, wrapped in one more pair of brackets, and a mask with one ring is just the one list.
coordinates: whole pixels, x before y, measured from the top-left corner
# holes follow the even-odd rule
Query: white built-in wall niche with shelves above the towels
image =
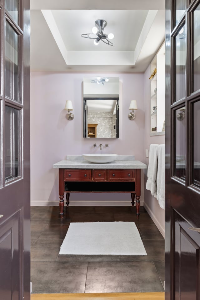
[(150, 135), (165, 134), (165, 42), (150, 64)]

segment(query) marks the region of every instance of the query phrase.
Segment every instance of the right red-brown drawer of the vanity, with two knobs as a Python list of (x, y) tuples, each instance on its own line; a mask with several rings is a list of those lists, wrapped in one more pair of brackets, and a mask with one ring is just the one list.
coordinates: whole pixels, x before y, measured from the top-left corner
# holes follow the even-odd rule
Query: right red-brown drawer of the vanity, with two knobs
[(135, 170), (133, 169), (113, 169), (108, 170), (109, 181), (135, 181)]

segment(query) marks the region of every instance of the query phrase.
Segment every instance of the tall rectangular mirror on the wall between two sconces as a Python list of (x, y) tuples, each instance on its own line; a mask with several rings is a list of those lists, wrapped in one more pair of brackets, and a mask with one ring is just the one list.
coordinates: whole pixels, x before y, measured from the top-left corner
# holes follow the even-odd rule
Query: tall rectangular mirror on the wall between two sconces
[(83, 78), (83, 138), (119, 137), (119, 77)]

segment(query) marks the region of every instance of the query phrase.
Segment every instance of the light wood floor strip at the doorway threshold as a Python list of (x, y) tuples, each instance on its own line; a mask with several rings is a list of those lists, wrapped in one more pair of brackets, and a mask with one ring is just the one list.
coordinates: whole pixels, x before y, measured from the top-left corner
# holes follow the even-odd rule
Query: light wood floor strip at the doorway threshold
[(84, 293), (31, 294), (31, 300), (164, 300), (164, 292), (149, 293)]

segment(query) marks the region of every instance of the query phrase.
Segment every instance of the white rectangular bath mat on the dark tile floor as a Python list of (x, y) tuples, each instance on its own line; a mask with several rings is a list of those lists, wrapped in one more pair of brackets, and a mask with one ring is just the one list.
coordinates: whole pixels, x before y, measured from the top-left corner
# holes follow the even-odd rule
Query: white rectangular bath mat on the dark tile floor
[(134, 222), (70, 223), (59, 254), (147, 255)]

